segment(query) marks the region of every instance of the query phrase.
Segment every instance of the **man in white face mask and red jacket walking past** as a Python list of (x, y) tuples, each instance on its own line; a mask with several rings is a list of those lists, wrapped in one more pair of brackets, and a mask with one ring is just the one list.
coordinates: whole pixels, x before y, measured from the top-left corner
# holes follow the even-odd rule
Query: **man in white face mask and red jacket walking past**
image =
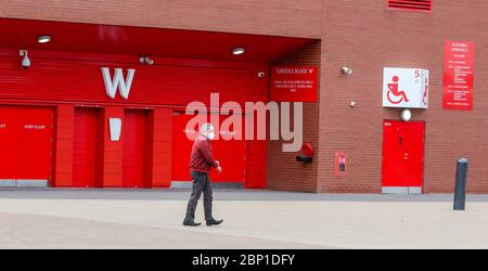
[(216, 220), (211, 216), (211, 183), (208, 178), (211, 167), (215, 167), (220, 173), (222, 168), (218, 160), (211, 156), (210, 140), (215, 138), (214, 126), (205, 124), (200, 128), (200, 134), (193, 142), (192, 153), (190, 157), (190, 172), (192, 176), (192, 194), (188, 202), (187, 216), (184, 225), (201, 225), (195, 222), (195, 209), (202, 192), (204, 193), (205, 220), (207, 225), (220, 224), (223, 220)]

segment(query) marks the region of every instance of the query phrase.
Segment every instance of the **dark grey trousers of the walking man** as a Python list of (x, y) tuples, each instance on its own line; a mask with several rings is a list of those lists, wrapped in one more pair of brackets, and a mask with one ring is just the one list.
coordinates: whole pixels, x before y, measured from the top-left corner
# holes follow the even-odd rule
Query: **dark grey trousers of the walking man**
[(205, 220), (213, 220), (211, 217), (211, 183), (207, 173), (192, 171), (192, 194), (188, 202), (185, 221), (194, 221), (196, 204), (198, 203), (202, 192), (204, 193)]

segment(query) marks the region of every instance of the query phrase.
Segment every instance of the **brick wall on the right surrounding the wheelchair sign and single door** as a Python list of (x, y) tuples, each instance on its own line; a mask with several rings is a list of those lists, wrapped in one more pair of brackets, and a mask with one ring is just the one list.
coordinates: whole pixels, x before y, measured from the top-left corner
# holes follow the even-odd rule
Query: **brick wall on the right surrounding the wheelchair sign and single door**
[[(413, 111), (413, 120), (426, 121), (424, 192), (452, 192), (461, 156), (470, 159), (468, 192), (488, 192), (487, 13), (486, 0), (434, 1), (432, 14), (387, 10), (386, 0), (325, 1), (320, 192), (381, 192), (382, 121), (399, 119), (398, 109), (382, 107), (384, 66), (431, 70), (429, 108)], [(477, 44), (472, 112), (441, 108), (445, 39)], [(341, 75), (343, 65), (354, 75)], [(345, 178), (333, 176), (335, 150), (347, 151)]]

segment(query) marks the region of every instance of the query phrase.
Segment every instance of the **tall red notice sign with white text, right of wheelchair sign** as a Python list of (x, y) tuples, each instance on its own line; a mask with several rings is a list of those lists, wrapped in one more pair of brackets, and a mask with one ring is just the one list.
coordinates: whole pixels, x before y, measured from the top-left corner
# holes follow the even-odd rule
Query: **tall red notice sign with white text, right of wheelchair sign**
[(474, 43), (446, 41), (442, 107), (473, 109)]

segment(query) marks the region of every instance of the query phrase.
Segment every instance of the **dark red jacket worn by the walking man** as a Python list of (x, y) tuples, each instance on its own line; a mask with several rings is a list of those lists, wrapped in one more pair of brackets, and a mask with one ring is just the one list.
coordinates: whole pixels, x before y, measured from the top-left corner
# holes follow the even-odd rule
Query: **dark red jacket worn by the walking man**
[(209, 173), (211, 167), (218, 167), (211, 156), (210, 140), (198, 136), (193, 142), (192, 154), (190, 157), (190, 170)]

